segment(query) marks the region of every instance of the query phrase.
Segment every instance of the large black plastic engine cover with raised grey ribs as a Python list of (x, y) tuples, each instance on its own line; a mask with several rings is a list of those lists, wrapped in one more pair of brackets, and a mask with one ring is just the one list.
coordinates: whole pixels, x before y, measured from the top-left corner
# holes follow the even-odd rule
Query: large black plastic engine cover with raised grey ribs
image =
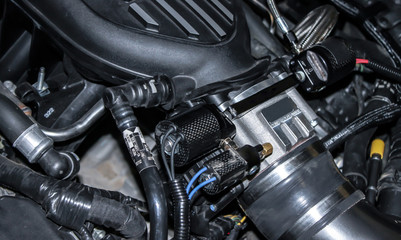
[(13, 2), (90, 79), (119, 84), (163, 74), (185, 90), (209, 91), (266, 65), (251, 57), (241, 0)]

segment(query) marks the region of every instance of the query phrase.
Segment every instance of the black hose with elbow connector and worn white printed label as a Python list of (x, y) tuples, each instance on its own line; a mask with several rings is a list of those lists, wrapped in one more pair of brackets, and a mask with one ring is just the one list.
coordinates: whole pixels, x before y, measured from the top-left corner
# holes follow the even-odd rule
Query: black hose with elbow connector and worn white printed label
[[(146, 82), (145, 84), (149, 84)], [(131, 106), (149, 107), (153, 104), (161, 104), (170, 99), (171, 88), (166, 81), (158, 85), (164, 94), (149, 93), (151, 87), (143, 88), (143, 83), (138, 86), (130, 86), (130, 91), (121, 91), (117, 88), (109, 88), (104, 95), (105, 106), (108, 107), (116, 121), (118, 129), (122, 132), (128, 151), (139, 172), (145, 195), (148, 202), (150, 216), (150, 239), (167, 239), (167, 199), (164, 186), (157, 170), (153, 155), (147, 146), (143, 134), (138, 127), (138, 121)], [(142, 89), (143, 93), (137, 94), (134, 90)], [(146, 93), (146, 94), (144, 94)], [(161, 97), (163, 99), (161, 99)]]

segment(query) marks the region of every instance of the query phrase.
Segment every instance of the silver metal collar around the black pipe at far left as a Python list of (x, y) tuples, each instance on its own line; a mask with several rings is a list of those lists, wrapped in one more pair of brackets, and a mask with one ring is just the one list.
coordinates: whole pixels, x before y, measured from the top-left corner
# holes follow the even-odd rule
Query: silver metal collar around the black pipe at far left
[(36, 163), (43, 153), (53, 147), (53, 140), (46, 136), (37, 124), (33, 124), (14, 141), (13, 147), (30, 163)]

